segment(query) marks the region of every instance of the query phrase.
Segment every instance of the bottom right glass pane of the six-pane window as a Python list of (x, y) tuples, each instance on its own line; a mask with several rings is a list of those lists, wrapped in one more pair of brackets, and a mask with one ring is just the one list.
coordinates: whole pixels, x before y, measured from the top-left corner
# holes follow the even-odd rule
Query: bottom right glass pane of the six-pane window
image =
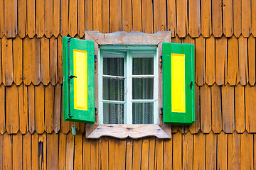
[(132, 103), (132, 124), (154, 124), (154, 103)]

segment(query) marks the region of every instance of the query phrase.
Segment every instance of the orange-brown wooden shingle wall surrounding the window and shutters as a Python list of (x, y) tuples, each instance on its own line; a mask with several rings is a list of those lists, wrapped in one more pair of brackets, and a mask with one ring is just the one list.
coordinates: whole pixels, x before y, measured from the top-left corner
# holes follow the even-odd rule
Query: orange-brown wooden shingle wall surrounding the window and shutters
[[(85, 30), (193, 43), (196, 122), (171, 140), (63, 122), (62, 37)], [(0, 1), (0, 169), (256, 169), (255, 37), (254, 0)]]

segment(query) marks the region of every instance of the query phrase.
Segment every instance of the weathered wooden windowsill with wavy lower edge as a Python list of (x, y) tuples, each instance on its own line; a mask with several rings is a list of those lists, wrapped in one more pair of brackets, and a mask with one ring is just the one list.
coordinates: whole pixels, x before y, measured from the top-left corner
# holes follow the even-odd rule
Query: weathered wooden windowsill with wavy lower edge
[(138, 139), (155, 136), (160, 139), (171, 139), (171, 135), (160, 125), (97, 125), (90, 134), (87, 134), (89, 139), (97, 139), (102, 136), (117, 137), (119, 139), (126, 137)]

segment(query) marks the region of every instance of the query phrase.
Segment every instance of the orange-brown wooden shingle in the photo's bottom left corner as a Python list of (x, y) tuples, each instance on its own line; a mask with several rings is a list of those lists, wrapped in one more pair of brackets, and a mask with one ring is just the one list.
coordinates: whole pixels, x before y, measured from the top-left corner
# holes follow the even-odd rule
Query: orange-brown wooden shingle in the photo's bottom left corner
[(12, 152), (11, 152), (11, 144), (12, 144), (12, 135), (8, 135), (7, 133), (4, 135), (4, 146), (3, 146), (3, 169), (12, 169)]

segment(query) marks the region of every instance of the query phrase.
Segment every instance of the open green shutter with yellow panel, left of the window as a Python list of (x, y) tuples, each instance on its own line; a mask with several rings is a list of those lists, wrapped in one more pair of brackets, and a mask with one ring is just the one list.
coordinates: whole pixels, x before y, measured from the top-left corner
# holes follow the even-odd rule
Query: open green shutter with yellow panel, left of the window
[(63, 37), (63, 119), (95, 123), (94, 42)]

